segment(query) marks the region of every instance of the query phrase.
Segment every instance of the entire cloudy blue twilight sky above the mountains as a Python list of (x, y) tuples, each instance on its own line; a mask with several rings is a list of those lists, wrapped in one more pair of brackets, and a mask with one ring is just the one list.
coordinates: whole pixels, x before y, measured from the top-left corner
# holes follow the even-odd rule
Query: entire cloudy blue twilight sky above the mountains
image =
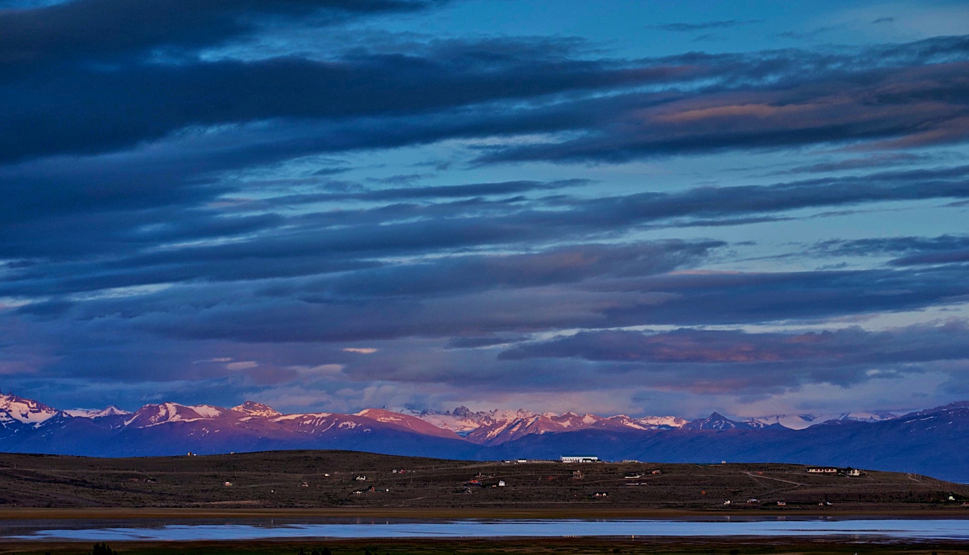
[(0, 1), (0, 389), (969, 399), (969, 7)]

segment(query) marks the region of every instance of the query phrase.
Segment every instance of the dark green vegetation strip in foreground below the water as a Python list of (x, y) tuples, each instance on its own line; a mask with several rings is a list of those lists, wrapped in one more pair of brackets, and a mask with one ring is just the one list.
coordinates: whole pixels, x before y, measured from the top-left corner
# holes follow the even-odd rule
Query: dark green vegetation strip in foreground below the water
[[(965, 542), (877, 540), (332, 540), (291, 542), (170, 542), (0, 547), (16, 555), (969, 555)], [(23, 547), (21, 545), (20, 547)]]

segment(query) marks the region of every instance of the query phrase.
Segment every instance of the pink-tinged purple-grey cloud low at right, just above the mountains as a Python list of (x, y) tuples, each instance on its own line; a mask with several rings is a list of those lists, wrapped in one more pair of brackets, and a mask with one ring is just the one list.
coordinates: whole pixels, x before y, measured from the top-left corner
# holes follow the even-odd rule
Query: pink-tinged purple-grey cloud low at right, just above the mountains
[[(964, 363), (964, 322), (872, 332), (744, 332), (680, 328), (669, 332), (602, 330), (520, 345), (504, 360), (580, 359), (604, 374), (643, 376), (656, 384), (704, 390), (771, 389), (803, 384), (849, 386)], [(873, 369), (875, 369), (873, 371)]]

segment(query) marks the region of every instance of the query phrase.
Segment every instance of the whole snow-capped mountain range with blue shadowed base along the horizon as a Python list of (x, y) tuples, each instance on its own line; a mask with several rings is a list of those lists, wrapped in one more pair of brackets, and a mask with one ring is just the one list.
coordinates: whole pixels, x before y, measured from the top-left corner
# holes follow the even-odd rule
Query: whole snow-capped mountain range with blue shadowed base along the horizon
[(459, 459), (557, 458), (710, 463), (771, 461), (855, 466), (969, 481), (969, 402), (907, 415), (844, 413), (731, 419), (718, 413), (597, 416), (525, 410), (282, 414), (247, 401), (233, 408), (151, 404), (60, 410), (0, 394), (0, 451), (147, 456), (339, 448)]

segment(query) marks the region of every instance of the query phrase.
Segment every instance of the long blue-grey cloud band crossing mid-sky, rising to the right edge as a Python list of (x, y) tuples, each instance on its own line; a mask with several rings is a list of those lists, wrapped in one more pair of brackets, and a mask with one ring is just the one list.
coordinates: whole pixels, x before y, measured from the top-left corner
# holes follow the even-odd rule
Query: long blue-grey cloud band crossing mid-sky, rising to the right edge
[[(211, 208), (148, 208), (143, 203), (146, 198), (151, 200), (150, 196), (141, 196), (139, 189), (126, 188), (124, 181), (119, 181), (117, 190), (123, 196), (106, 197), (100, 210), (64, 213), (62, 209), (72, 206), (63, 204), (62, 197), (52, 200), (53, 205), (47, 207), (46, 214), (10, 223), (0, 255), (35, 263), (10, 267), (5, 283), (0, 284), (0, 294), (73, 293), (193, 280), (240, 281), (312, 275), (379, 267), (383, 265), (379, 262), (381, 258), (452, 249), (521, 248), (557, 240), (615, 239), (622, 235), (616, 234), (617, 229), (626, 233), (684, 225), (736, 226), (776, 220), (776, 213), (801, 208), (875, 201), (964, 199), (969, 198), (967, 171), (967, 167), (884, 171), (761, 186), (702, 187), (592, 199), (562, 195), (502, 198), (502, 195), (556, 190), (582, 183), (524, 181), (286, 195), (233, 203), (234, 209), (248, 204), (252, 204), (251, 209), (265, 209), (339, 199), (414, 200), (287, 216), (275, 212), (232, 215)], [(177, 190), (163, 194), (172, 201), (191, 205), (200, 200), (213, 202), (215, 194), (220, 192), (220, 187), (206, 193), (189, 185), (184, 190), (184, 199), (172, 197)], [(485, 200), (481, 198), (483, 195), (497, 199)], [(163, 204), (162, 199), (151, 201), (159, 206)], [(103, 222), (109, 206), (114, 214), (111, 225), (90, 225)], [(75, 210), (82, 207), (82, 204), (73, 206)], [(21, 218), (26, 215), (21, 214)], [(3, 236), (2, 229), (0, 236)], [(205, 242), (229, 238), (233, 240), (217, 244)], [(202, 243), (177, 249), (151, 249), (172, 242), (196, 241)], [(826, 248), (844, 251), (850, 247)], [(859, 248), (871, 250), (863, 244)], [(98, 257), (74, 260), (93, 255)], [(442, 287), (451, 287), (451, 282), (438, 281), (445, 282)], [(453, 283), (465, 283), (465, 280), (461, 278)]]

